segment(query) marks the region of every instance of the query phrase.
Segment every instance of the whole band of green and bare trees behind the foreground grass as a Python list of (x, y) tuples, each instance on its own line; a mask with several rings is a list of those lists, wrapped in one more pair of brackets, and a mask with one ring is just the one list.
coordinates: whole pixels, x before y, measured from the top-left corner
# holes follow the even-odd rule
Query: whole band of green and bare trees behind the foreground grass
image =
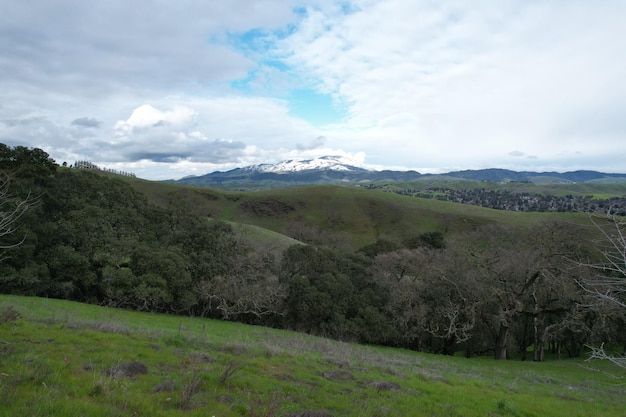
[(0, 236), (2, 293), (467, 357), (626, 349), (626, 309), (596, 302), (613, 296), (607, 281), (590, 291), (593, 277), (623, 279), (597, 268), (610, 242), (591, 224), (472, 223), (357, 250), (292, 227), (299, 242), (276, 250), (180, 199), (155, 203), (139, 179), (61, 167), (41, 149), (0, 144), (0, 170), (3, 213), (27, 206)]

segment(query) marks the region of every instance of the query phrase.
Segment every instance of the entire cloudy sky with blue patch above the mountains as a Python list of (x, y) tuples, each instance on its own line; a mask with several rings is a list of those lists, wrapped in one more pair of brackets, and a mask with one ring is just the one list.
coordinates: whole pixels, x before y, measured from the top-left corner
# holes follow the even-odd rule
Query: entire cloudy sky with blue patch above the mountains
[(623, 0), (3, 0), (0, 142), (161, 180), (324, 155), (626, 172)]

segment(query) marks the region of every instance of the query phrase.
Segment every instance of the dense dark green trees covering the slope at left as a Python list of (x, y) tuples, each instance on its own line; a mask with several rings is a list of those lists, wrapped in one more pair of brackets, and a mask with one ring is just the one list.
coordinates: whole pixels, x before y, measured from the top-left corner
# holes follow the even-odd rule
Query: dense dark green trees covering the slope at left
[[(41, 158), (5, 162), (24, 174), (24, 164), (47, 167)], [(230, 226), (153, 206), (116, 176), (59, 170), (43, 191), (19, 256), (0, 265), (4, 291), (186, 312), (193, 282), (227, 271), (239, 250)]]

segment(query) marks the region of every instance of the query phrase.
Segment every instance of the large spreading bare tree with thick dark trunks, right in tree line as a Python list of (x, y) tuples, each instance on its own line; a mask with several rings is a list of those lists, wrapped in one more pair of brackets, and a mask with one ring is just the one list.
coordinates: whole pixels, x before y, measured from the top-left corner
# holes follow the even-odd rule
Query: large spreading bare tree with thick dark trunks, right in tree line
[(517, 342), (522, 358), (534, 345), (534, 359), (543, 360), (546, 343), (557, 337), (556, 323), (576, 307), (575, 280), (564, 260), (583, 240), (571, 225), (546, 222), (531, 229), (487, 226), (461, 243), (469, 269), (479, 274), (481, 317), (496, 359), (506, 359)]

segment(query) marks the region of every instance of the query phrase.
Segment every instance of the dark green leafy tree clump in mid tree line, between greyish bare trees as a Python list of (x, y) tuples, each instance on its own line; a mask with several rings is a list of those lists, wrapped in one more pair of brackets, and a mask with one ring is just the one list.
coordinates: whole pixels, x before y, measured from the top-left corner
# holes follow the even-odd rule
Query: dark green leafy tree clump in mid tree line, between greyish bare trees
[(385, 342), (386, 290), (374, 280), (370, 264), (311, 246), (289, 248), (280, 269), (288, 288), (287, 327), (342, 340)]

